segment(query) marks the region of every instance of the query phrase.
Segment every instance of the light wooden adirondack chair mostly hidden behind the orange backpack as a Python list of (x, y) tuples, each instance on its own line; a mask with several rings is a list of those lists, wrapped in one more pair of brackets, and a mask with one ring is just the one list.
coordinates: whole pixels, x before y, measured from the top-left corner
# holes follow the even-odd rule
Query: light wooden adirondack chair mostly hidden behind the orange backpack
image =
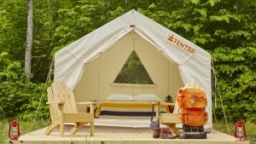
[[(196, 88), (196, 89), (202, 89), (201, 84), (198, 84), (196, 82), (190, 82), (188, 84), (184, 85), (184, 88)], [(202, 89), (204, 90), (204, 89)], [(166, 105), (171, 105), (173, 106), (172, 103), (167, 103)], [(159, 113), (159, 120), (160, 124), (165, 124), (167, 127), (173, 130), (173, 132), (177, 135), (180, 136), (181, 132), (176, 128), (176, 124), (182, 124), (182, 121), (179, 118), (178, 115), (179, 112), (179, 107), (177, 105), (177, 101), (174, 104), (174, 110), (172, 113)]]

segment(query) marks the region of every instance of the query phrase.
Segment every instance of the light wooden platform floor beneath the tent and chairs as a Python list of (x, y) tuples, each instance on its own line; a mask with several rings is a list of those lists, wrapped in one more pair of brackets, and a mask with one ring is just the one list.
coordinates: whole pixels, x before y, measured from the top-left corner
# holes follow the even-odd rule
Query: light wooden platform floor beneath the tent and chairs
[(160, 139), (153, 138), (148, 128), (129, 128), (113, 126), (96, 126), (95, 136), (90, 136), (89, 127), (84, 126), (76, 135), (69, 135), (72, 126), (65, 127), (65, 137), (61, 137), (58, 130), (51, 135), (44, 135), (44, 129), (36, 130), (26, 135), (21, 135), (19, 141), (6, 141), (7, 144), (249, 144), (248, 141), (236, 141), (234, 136), (212, 130), (207, 134), (207, 139)]

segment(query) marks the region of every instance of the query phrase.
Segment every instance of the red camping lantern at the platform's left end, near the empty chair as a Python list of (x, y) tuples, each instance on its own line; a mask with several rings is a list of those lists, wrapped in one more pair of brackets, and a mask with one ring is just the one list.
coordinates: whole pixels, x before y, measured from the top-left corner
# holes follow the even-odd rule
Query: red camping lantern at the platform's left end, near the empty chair
[(18, 140), (20, 137), (20, 124), (15, 120), (9, 124), (9, 139)]

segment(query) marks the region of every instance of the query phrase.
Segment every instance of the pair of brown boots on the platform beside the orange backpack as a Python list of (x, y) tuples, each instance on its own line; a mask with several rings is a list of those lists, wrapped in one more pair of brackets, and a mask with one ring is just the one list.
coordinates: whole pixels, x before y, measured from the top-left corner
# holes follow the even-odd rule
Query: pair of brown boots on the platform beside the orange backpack
[(154, 128), (153, 137), (161, 139), (174, 139), (176, 135), (172, 135), (172, 131), (168, 128)]

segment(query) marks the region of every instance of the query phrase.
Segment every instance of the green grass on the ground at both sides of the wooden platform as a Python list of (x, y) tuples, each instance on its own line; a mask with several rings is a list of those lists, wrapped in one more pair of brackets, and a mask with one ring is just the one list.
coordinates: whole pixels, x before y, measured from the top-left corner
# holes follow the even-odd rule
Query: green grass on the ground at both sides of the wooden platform
[[(32, 130), (38, 130), (41, 128), (46, 127), (49, 125), (48, 121), (38, 121), (34, 124), (33, 128), (31, 129), (32, 122), (25, 122), (25, 121), (18, 121), (20, 124), (20, 133), (24, 135)], [(213, 128), (215, 130), (219, 130), (229, 135), (234, 135), (234, 125), (229, 124), (230, 130), (227, 130), (227, 126), (224, 122), (213, 123)], [(6, 121), (0, 121), (0, 144), (5, 143), (6, 140), (9, 139), (8, 131), (9, 131), (9, 124)], [(246, 123), (246, 130), (247, 130), (247, 141), (250, 141), (250, 144), (256, 144), (256, 124), (253, 123)]]

